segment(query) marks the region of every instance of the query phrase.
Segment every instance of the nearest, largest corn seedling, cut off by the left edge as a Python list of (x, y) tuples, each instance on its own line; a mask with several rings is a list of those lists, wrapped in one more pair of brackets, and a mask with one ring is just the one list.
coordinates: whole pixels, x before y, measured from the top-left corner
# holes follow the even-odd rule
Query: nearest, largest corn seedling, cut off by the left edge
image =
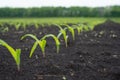
[(0, 39), (0, 45), (4, 46), (8, 49), (8, 51), (11, 53), (12, 57), (14, 58), (17, 69), (20, 71), (20, 54), (21, 54), (21, 49), (13, 49), (10, 45), (8, 45), (5, 41)]

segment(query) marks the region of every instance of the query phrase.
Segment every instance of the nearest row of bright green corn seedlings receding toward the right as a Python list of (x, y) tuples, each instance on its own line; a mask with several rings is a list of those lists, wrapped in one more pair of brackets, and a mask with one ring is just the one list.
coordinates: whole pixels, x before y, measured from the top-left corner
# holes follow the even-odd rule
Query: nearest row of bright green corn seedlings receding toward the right
[[(59, 48), (60, 48), (60, 37), (62, 36), (65, 42), (65, 45), (67, 47), (67, 43), (68, 43), (68, 35), (67, 35), (67, 31), (69, 31), (72, 35), (73, 40), (75, 40), (75, 30), (77, 30), (78, 35), (80, 34), (80, 32), (82, 31), (88, 31), (90, 30), (90, 27), (85, 25), (85, 24), (78, 24), (78, 25), (73, 25), (73, 26), (69, 26), (67, 24), (62, 24), (62, 25), (58, 25), (58, 24), (54, 24), (55, 26), (57, 26), (59, 28), (59, 33), (58, 35), (54, 35), (54, 34), (47, 34), (44, 35), (42, 38), (37, 38), (37, 36), (33, 35), (33, 34), (25, 34), (21, 37), (21, 40), (23, 40), (26, 37), (31, 37), (32, 39), (35, 40), (31, 50), (30, 50), (30, 55), (29, 57), (31, 58), (35, 49), (37, 48), (37, 46), (39, 46), (41, 48), (43, 57), (45, 57), (45, 47), (46, 47), (46, 38), (52, 37), (55, 41), (56, 44), (56, 51), (57, 53), (59, 53)], [(65, 28), (61, 27), (61, 26), (65, 26)], [(7, 42), (5, 42), (4, 40), (0, 39), (0, 45), (4, 46), (8, 49), (8, 51), (11, 53), (12, 57), (15, 60), (15, 63), (17, 65), (17, 69), (18, 71), (20, 70), (20, 55), (21, 55), (21, 49), (14, 49), (12, 46), (10, 46)]]

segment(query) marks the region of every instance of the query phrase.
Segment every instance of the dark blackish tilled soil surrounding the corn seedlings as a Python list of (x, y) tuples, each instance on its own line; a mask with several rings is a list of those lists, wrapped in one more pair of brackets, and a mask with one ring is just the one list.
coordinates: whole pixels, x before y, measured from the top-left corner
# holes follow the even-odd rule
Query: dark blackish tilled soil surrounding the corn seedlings
[(0, 80), (120, 80), (120, 24), (106, 21), (95, 26), (94, 30), (82, 32), (73, 41), (70, 33), (68, 47), (61, 38), (60, 53), (56, 53), (55, 42), (48, 38), (46, 57), (37, 47), (32, 58), (30, 49), (34, 40), (20, 40), (26, 33), (41, 38), (45, 34), (58, 34), (53, 25), (40, 27), (28, 26), (15, 30), (10, 26), (8, 32), (0, 33), (0, 38), (14, 48), (21, 48), (21, 70), (8, 50), (0, 46)]

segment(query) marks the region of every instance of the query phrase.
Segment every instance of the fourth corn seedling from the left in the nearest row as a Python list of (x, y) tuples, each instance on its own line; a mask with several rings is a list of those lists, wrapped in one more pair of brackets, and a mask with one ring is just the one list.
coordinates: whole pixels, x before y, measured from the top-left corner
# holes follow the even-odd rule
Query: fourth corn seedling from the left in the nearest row
[(55, 25), (60, 29), (59, 34), (57, 35), (57, 38), (59, 39), (60, 36), (63, 35), (64, 41), (65, 41), (65, 45), (67, 47), (68, 35), (66, 33), (66, 28), (63, 29), (60, 25), (57, 25), (57, 24), (55, 24)]

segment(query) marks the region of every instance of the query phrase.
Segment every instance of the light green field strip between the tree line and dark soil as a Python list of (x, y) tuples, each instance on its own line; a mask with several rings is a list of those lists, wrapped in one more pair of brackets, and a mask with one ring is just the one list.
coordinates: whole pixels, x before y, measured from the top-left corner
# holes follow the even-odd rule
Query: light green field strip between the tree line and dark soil
[[(94, 27), (99, 23), (103, 23), (108, 18), (84, 18), (84, 17), (54, 17), (54, 18), (2, 18), (0, 19), (1, 23), (23, 23), (23, 24), (31, 24), (31, 23), (39, 23), (39, 24), (64, 24), (64, 23), (88, 23), (90, 26)], [(115, 22), (120, 23), (120, 18), (109, 18)]]

